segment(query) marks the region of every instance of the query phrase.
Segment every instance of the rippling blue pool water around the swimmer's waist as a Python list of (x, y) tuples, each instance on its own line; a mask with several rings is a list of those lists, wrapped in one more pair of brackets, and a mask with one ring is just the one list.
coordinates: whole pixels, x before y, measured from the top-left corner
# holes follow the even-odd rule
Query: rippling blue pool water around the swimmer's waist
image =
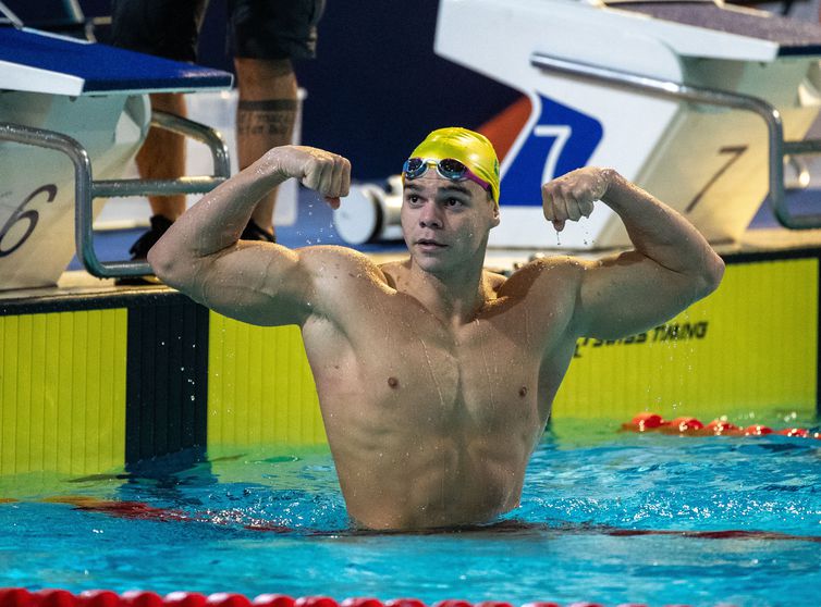
[(0, 586), (821, 604), (821, 441), (585, 424), (546, 433), (500, 525), (451, 533), (350, 531), (326, 449), (1, 478)]

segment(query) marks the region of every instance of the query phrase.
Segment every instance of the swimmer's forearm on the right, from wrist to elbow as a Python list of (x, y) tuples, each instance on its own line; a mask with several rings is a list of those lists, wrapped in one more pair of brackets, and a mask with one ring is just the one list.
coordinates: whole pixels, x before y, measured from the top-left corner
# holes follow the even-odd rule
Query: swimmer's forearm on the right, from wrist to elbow
[(710, 290), (715, 288), (724, 262), (698, 230), (615, 171), (604, 172), (608, 189), (601, 200), (622, 219), (636, 250), (669, 270), (704, 281)]

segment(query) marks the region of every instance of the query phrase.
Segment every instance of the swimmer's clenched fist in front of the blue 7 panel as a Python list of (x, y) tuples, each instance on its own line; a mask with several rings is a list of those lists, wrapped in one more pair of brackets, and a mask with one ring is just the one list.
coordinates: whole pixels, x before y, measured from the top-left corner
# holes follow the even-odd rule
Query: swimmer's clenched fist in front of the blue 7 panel
[(566, 221), (590, 216), (593, 202), (601, 200), (610, 185), (611, 171), (598, 166), (577, 169), (541, 186), (544, 219), (553, 222), (556, 232)]

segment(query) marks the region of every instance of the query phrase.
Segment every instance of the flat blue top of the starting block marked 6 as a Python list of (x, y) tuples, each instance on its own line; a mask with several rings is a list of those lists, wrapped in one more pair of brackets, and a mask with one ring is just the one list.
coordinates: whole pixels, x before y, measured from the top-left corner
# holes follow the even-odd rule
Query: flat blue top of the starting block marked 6
[(226, 88), (232, 82), (219, 70), (12, 27), (0, 27), (0, 61), (83, 78), (84, 92)]

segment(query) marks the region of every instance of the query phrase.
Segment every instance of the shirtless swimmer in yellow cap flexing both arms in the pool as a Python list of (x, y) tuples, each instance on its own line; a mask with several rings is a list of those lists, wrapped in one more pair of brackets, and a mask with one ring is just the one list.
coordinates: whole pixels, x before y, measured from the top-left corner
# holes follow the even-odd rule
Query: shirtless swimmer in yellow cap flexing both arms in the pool
[(599, 168), (543, 185), (544, 216), (562, 230), (601, 201), (633, 250), (538, 259), (507, 278), (486, 271), (499, 163), (490, 141), (464, 128), (434, 131), (404, 164), (401, 262), (240, 240), (255, 202), (289, 178), (335, 209), (351, 166), (319, 149), (273, 148), (184, 213), (148, 260), (222, 314), (302, 329), (358, 528), (453, 528), (515, 508), (576, 339), (655, 326), (715, 289), (724, 271), (683, 216)]

